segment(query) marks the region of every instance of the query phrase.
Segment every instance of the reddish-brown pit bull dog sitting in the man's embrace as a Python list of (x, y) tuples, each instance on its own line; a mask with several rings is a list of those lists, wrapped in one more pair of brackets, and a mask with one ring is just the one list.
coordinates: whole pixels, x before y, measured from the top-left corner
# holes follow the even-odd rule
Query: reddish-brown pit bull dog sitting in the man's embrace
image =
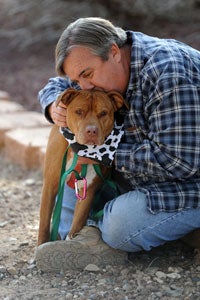
[[(60, 101), (67, 107), (68, 128), (81, 145), (102, 145), (113, 129), (114, 112), (124, 104), (122, 96), (115, 91), (104, 93), (77, 91), (72, 88), (59, 96), (57, 104)], [(59, 127), (54, 125), (50, 132), (44, 164), (38, 245), (49, 241), (51, 216), (58, 192), (62, 159), (67, 146), (68, 143), (59, 132)], [(69, 148), (67, 166), (73, 156), (74, 152)], [(88, 165), (86, 199), (76, 203), (72, 226), (68, 234), (69, 238), (85, 225), (95, 191), (102, 184), (102, 179), (92, 170), (92, 165)], [(101, 165), (103, 176), (106, 176), (109, 171), (109, 167)], [(80, 194), (82, 194), (81, 189)]]

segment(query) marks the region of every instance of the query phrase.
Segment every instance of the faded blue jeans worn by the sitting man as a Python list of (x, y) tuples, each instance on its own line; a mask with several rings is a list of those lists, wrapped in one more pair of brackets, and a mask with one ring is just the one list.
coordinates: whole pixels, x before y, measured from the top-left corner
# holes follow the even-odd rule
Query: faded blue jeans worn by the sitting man
[[(75, 203), (74, 190), (65, 185), (61, 239), (70, 229)], [(130, 191), (106, 203), (103, 218), (98, 222), (88, 219), (87, 225), (99, 228), (102, 239), (113, 248), (127, 252), (151, 250), (200, 228), (200, 208), (152, 214), (145, 194)]]

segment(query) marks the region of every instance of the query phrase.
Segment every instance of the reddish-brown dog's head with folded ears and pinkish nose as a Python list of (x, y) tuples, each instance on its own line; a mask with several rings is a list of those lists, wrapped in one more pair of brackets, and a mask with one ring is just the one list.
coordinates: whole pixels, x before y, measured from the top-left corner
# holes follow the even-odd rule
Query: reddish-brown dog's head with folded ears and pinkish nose
[(57, 99), (67, 107), (67, 125), (84, 145), (102, 145), (114, 125), (114, 112), (124, 104), (116, 91), (102, 92), (69, 88)]

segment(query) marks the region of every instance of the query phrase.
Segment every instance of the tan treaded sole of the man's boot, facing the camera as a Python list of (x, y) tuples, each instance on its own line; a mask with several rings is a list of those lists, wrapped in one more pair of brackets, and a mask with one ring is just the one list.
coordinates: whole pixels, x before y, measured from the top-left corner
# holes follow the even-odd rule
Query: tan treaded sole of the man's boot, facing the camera
[(48, 242), (40, 245), (36, 250), (36, 266), (46, 272), (60, 272), (66, 270), (83, 270), (88, 264), (98, 267), (107, 265), (125, 265), (128, 254), (112, 248), (88, 247), (82, 243), (68, 241)]

